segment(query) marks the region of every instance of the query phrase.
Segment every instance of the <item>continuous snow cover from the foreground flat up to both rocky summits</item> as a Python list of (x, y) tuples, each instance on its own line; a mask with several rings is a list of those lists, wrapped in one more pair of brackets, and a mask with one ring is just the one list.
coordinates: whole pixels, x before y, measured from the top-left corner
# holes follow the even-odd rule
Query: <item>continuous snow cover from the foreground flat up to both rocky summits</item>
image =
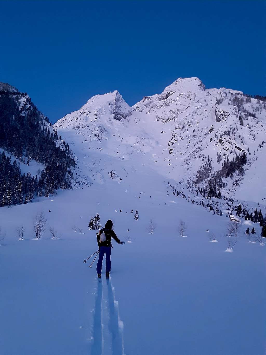
[[(227, 238), (226, 213), (220, 217), (191, 202), (197, 197), (192, 180), (207, 155), (214, 169), (221, 163), (218, 149), (221, 155), (225, 151), (234, 156), (232, 147), (219, 146), (217, 131), (227, 124), (232, 124), (231, 131), (242, 131), (254, 117), (243, 118), (244, 126), (238, 127), (231, 101), (217, 103), (218, 90), (208, 94), (198, 79), (179, 80), (170, 87), (170, 96), (166, 88), (133, 108), (117, 92), (97, 95), (59, 120), (55, 128), (77, 160), (74, 190), (0, 208), (1, 233), (6, 233), (0, 241), (3, 354), (265, 353), (265, 245), (256, 241), (261, 227), (240, 217), (238, 236)], [(249, 104), (260, 106), (254, 99)], [(264, 108), (255, 112), (264, 127)], [(255, 141), (247, 136), (240, 146), (232, 133), (231, 140), (247, 150), (259, 142), (263, 127), (256, 130)], [(196, 153), (196, 147), (202, 150)], [(263, 149), (256, 151), (258, 160)], [(248, 155), (240, 196), (249, 193), (240, 190), (245, 179), (258, 179), (258, 160)], [(183, 194), (176, 196), (173, 186)], [(228, 194), (229, 188), (224, 189)], [(260, 208), (265, 215), (265, 205)], [(139, 220), (134, 219), (136, 210)], [(48, 228), (36, 240), (33, 219), (41, 211)], [(98, 249), (96, 231), (88, 230), (96, 213), (102, 225), (112, 219), (125, 242), (113, 243), (111, 279), (105, 280), (104, 263), (102, 284), (96, 279), (97, 258), (92, 268), (92, 258), (83, 263)], [(150, 219), (156, 225), (153, 234)], [(180, 236), (180, 220), (187, 224), (187, 237)], [(24, 240), (17, 237), (21, 224)], [(49, 226), (60, 239), (52, 238)], [(248, 226), (256, 234), (245, 235)], [(210, 242), (214, 236), (217, 242)], [(225, 252), (229, 239), (239, 242), (233, 252)], [(37, 329), (34, 335), (32, 329)]]

